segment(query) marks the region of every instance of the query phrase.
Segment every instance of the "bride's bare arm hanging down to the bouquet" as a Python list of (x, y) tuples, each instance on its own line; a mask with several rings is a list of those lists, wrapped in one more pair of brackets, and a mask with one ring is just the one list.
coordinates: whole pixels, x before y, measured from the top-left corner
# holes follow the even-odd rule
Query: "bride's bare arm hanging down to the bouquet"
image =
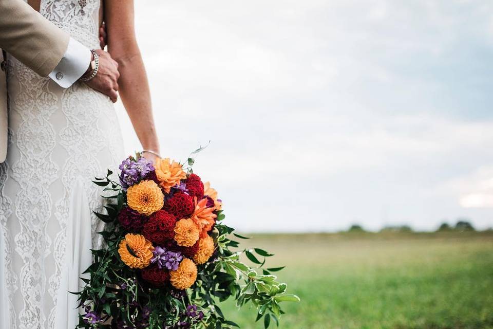
[[(119, 93), (144, 150), (159, 153), (149, 84), (134, 31), (134, 1), (105, 0), (108, 52), (118, 62)], [(153, 158), (151, 154), (145, 154)]]

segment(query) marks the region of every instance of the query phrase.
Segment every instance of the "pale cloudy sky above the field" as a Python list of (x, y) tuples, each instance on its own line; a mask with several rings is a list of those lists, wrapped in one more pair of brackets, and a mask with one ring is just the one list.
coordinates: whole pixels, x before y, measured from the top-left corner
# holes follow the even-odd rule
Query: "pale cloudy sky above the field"
[[(243, 232), (493, 226), (493, 3), (136, 2), (161, 154)], [(140, 143), (121, 103), (130, 154)]]

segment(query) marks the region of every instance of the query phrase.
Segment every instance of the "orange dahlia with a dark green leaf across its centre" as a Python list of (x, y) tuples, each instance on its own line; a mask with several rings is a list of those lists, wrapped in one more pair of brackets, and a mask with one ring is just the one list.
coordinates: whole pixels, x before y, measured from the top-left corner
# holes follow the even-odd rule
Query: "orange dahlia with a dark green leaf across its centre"
[(144, 268), (150, 264), (153, 250), (153, 244), (144, 235), (127, 233), (120, 241), (118, 253), (123, 263), (130, 268)]

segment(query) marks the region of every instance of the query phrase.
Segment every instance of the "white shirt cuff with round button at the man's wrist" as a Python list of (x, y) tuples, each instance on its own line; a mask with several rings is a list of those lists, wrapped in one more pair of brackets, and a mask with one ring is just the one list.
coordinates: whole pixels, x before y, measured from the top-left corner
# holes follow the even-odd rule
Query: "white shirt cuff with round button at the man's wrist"
[(91, 58), (91, 51), (87, 47), (70, 38), (67, 51), (49, 77), (61, 87), (68, 88), (87, 71)]

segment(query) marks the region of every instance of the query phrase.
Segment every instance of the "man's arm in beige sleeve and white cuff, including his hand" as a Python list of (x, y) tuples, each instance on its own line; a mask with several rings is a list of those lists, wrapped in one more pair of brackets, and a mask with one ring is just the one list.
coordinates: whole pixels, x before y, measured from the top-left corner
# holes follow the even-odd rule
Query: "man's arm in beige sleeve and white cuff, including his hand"
[[(67, 88), (89, 70), (92, 53), (23, 0), (0, 0), (0, 48), (42, 77)], [(86, 84), (117, 99), (118, 64), (100, 54), (98, 74)]]

